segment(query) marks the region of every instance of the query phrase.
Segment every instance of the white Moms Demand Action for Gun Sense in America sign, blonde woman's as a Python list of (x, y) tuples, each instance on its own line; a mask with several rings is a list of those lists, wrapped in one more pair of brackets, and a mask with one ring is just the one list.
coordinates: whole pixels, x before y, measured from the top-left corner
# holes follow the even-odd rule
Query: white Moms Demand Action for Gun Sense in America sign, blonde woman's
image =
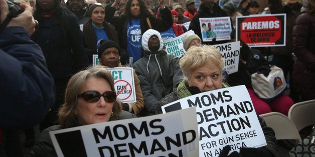
[(196, 106), (199, 154), (218, 156), (229, 144), (231, 150), (266, 145), (253, 103), (245, 85), (202, 92), (162, 106), (169, 112)]

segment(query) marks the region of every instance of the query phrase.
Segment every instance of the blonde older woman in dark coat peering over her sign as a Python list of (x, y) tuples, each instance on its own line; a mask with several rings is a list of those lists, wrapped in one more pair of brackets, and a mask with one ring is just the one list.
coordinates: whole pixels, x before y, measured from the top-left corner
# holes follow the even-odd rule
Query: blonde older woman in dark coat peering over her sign
[[(185, 79), (176, 84), (174, 91), (158, 102), (156, 113), (162, 113), (161, 106), (178, 99), (197, 93), (228, 87), (223, 82), (223, 67), (225, 61), (220, 51), (214, 46), (194, 46), (188, 49), (180, 59), (180, 67)], [(258, 115), (257, 115), (258, 116)], [(265, 135), (267, 145), (258, 148), (243, 147), (240, 149), (242, 156), (274, 156), (276, 154), (276, 138), (272, 128), (267, 127), (265, 121), (258, 116), (260, 125)], [(221, 157), (227, 156), (230, 145), (223, 148)], [(239, 156), (233, 151), (234, 156)]]

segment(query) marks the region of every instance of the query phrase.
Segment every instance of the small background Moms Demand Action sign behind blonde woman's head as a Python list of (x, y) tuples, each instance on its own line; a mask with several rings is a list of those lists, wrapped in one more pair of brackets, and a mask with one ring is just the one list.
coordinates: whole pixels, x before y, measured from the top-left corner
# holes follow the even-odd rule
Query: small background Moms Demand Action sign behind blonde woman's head
[(240, 42), (228, 42), (223, 44), (216, 44), (215, 46), (225, 60), (224, 70), (228, 74), (238, 71), (238, 62), (240, 57)]

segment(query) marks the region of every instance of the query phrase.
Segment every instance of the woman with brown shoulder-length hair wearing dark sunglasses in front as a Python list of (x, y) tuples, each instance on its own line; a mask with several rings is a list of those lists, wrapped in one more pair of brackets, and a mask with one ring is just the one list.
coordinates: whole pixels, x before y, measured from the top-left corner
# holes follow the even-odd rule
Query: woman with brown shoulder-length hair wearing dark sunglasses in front
[(113, 77), (104, 66), (90, 67), (70, 78), (65, 103), (58, 115), (60, 125), (41, 132), (33, 147), (33, 155), (57, 156), (49, 131), (135, 117), (122, 110), (121, 102), (116, 99)]

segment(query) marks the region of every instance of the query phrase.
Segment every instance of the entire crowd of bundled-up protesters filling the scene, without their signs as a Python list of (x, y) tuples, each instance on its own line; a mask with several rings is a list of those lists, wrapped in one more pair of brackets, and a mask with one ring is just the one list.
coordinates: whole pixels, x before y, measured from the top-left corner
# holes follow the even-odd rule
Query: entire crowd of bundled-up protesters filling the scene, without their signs
[[(9, 4), (9, 5), (8, 5)], [(315, 0), (268, 0), (272, 14), (286, 14), (285, 46), (242, 44), (238, 71), (227, 75), (224, 58), (214, 44), (235, 41), (236, 16), (259, 14), (255, 0), (194, 0), (185, 5), (148, 6), (143, 0), (36, 0), (21, 3), (16, 17), (7, 16), (14, 3), (0, 0), (0, 156), (23, 156), (20, 130), (33, 156), (57, 156), (49, 131), (162, 113), (161, 106), (205, 91), (244, 84), (252, 99), (267, 145), (241, 148), (230, 155), (276, 156), (273, 130), (258, 114), (287, 115), (291, 105), (315, 99)], [(11, 10), (11, 9), (10, 9)], [(231, 40), (216, 40), (211, 23), (199, 18), (230, 17)], [(38, 25), (36, 26), (36, 21)], [(190, 22), (188, 29), (183, 23)], [(203, 29), (201, 29), (201, 26)], [(207, 29), (208, 28), (208, 29)], [(186, 53), (168, 54), (164, 40), (184, 36)], [(211, 37), (212, 41), (202, 41)], [(92, 67), (93, 54), (99, 63)], [(266, 56), (271, 60), (265, 60)], [(136, 102), (116, 98), (111, 73), (104, 67), (131, 66)], [(267, 57), (268, 58), (268, 57)], [(9, 66), (8, 66), (9, 65)], [(254, 92), (250, 75), (260, 66), (276, 65), (289, 89), (271, 102)], [(40, 136), (34, 126), (39, 124)], [(38, 138), (35, 143), (35, 138)], [(229, 146), (222, 152), (229, 152)]]

